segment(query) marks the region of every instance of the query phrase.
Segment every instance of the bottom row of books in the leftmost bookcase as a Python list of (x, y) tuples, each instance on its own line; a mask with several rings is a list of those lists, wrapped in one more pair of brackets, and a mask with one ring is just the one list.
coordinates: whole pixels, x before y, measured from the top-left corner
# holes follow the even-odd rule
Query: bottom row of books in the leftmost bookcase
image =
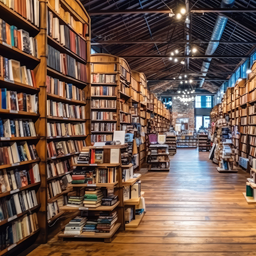
[(0, 230), (0, 250), (12, 249), (12, 246), (30, 234), (38, 230), (37, 214), (25, 215), (17, 221), (9, 223), (4, 229)]

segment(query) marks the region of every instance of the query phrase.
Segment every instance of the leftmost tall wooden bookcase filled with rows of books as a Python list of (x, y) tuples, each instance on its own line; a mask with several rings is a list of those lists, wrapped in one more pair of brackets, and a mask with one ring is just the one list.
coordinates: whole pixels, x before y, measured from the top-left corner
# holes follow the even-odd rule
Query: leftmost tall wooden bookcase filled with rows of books
[[(36, 3), (39, 5), (39, 1)], [(14, 255), (21, 248), (28, 248), (40, 231), (36, 224), (41, 207), (41, 175), (38, 167), (41, 159), (38, 157), (38, 150), (36, 151), (40, 136), (35, 125), (40, 119), (40, 88), (34, 78), (37, 67), (41, 64), (41, 58), (38, 57), (40, 55), (35, 54), (40, 29), (38, 20), (30, 22), (24, 14), (20, 15), (20, 10), (12, 10), (3, 2), (0, 2), (0, 13), (0, 18), (5, 23), (5, 29), (2, 30), (3, 41), (0, 42), (0, 58), (6, 70), (0, 75), (0, 125), (3, 128), (0, 141), (1, 150), (5, 152), (0, 166), (0, 237), (3, 239), (0, 255)], [(29, 15), (32, 15), (31, 20), (39, 12)], [(24, 36), (30, 40), (23, 47), (20, 29), (23, 29)], [(10, 40), (14, 31), (17, 32), (15, 39), (19, 42)], [(30, 229), (15, 237), (13, 244), (5, 246), (6, 230), (9, 234), (16, 233), (18, 223), (21, 222), (31, 225)]]

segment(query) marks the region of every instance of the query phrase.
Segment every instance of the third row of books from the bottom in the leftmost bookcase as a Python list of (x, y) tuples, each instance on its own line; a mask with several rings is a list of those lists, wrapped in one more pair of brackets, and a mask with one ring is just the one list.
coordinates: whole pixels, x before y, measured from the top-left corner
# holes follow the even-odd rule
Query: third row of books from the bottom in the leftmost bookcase
[(38, 164), (29, 166), (29, 170), (0, 170), (0, 193), (20, 189), (29, 184), (40, 182)]

